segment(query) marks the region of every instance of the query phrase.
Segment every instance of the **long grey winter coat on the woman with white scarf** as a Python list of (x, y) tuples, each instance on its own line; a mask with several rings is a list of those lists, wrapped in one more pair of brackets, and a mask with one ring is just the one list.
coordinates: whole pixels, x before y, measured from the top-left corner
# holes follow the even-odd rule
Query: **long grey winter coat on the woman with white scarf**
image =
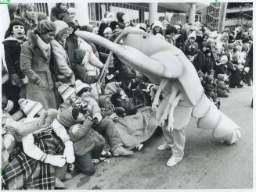
[(44, 55), (39, 48), (38, 37), (30, 33), (28, 41), (21, 45), (20, 69), (28, 77), (26, 97), (38, 101), (45, 109), (57, 108), (56, 94), (49, 68), (51, 52)]

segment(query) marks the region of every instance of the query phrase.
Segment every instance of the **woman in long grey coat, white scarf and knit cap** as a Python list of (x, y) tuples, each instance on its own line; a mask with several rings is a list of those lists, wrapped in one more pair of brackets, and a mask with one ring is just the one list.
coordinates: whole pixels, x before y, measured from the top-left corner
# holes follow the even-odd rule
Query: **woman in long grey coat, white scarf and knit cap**
[(38, 101), (45, 109), (57, 108), (56, 94), (50, 71), (51, 46), (56, 25), (49, 20), (41, 20), (36, 30), (21, 45), (20, 69), (28, 77), (26, 98)]

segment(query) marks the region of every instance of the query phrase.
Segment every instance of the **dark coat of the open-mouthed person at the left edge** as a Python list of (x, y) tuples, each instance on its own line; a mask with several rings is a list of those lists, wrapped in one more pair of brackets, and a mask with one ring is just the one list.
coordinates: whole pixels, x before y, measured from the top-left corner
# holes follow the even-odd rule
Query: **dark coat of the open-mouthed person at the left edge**
[(5, 48), (5, 62), (12, 80), (15, 84), (21, 84), (21, 79), (25, 78), (20, 69), (20, 45), (23, 41), (17, 40), (15, 37), (8, 37), (2, 42)]

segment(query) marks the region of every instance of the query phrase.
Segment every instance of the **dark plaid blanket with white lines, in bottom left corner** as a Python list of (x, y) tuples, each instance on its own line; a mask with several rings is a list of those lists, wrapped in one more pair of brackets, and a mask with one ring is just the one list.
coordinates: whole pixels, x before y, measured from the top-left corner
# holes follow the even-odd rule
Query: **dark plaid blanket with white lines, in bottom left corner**
[[(34, 144), (49, 155), (63, 154), (64, 145), (52, 128), (34, 134)], [(55, 187), (55, 180), (52, 165), (30, 158), (23, 151), (2, 171), (2, 189), (5, 190), (51, 190)]]

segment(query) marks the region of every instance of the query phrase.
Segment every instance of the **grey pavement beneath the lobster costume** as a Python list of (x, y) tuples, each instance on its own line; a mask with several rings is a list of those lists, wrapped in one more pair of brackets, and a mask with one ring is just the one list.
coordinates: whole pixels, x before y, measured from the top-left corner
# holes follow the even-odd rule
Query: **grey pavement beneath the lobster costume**
[(212, 137), (211, 130), (197, 128), (197, 119), (186, 127), (182, 162), (168, 167), (171, 151), (157, 151), (164, 137), (154, 136), (142, 151), (128, 157), (110, 158), (96, 165), (93, 176), (78, 174), (67, 189), (251, 189), (253, 187), (252, 87), (231, 89), (220, 98), (220, 110), (240, 127), (242, 138), (227, 146)]

